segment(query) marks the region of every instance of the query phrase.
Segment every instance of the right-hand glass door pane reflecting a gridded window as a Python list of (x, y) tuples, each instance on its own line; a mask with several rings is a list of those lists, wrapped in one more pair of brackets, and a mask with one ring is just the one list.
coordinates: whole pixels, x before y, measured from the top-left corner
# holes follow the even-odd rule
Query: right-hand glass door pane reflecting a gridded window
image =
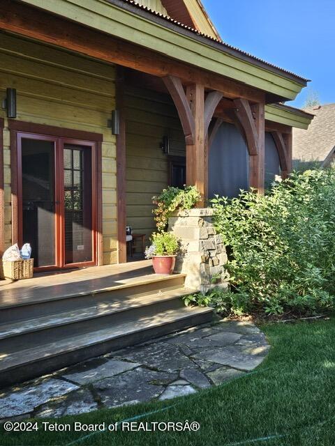
[(83, 263), (92, 255), (91, 147), (64, 144), (65, 263)]

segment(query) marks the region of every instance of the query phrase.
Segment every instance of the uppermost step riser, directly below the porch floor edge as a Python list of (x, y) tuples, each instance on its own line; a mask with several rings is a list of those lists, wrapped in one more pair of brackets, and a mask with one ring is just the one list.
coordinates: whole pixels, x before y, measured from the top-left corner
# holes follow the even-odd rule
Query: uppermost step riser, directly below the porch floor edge
[(34, 303), (31, 305), (13, 306), (0, 309), (1, 323), (15, 323), (47, 314), (58, 314), (73, 309), (81, 309), (99, 302), (112, 302), (113, 300), (126, 299), (127, 296), (148, 295), (158, 291), (169, 291), (184, 286), (184, 277), (177, 276), (150, 282), (149, 284), (132, 285), (123, 289), (101, 291), (93, 295), (79, 295), (72, 298), (49, 300), (47, 302)]

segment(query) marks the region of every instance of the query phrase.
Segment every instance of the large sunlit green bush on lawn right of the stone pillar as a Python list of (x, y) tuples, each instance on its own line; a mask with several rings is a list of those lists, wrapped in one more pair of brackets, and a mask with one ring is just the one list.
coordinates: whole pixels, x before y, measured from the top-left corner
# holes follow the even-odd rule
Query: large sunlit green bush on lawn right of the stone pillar
[(228, 312), (315, 312), (335, 293), (335, 169), (293, 173), (265, 196), (211, 201), (228, 247)]

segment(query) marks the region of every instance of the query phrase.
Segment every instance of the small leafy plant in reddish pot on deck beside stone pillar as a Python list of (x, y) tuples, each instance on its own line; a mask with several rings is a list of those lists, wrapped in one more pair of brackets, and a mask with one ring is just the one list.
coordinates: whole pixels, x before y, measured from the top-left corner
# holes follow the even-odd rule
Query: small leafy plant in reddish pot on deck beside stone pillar
[(170, 275), (174, 270), (179, 251), (179, 239), (172, 232), (156, 232), (151, 236), (152, 245), (145, 249), (147, 259), (152, 259), (156, 274)]

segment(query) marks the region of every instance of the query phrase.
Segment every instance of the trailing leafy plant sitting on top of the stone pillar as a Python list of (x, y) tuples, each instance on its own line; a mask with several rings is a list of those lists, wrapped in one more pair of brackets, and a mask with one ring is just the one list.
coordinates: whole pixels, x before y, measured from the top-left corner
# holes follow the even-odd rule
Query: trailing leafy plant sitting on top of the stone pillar
[(152, 197), (152, 200), (157, 206), (152, 210), (157, 229), (164, 231), (174, 210), (193, 208), (200, 200), (200, 193), (195, 186), (185, 186), (184, 189), (169, 186), (158, 197)]

